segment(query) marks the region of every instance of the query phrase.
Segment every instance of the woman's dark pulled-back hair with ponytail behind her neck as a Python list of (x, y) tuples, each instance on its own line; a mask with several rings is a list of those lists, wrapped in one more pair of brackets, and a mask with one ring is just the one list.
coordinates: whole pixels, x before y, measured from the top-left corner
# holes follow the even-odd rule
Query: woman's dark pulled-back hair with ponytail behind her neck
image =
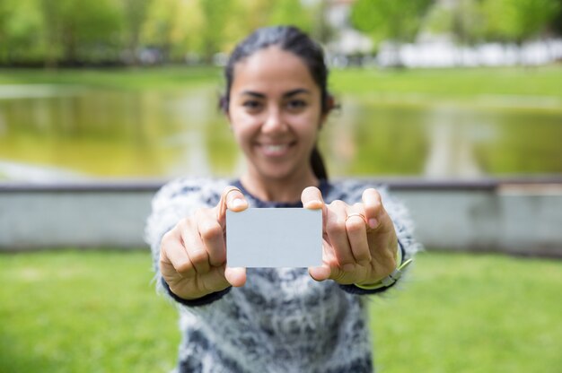
[[(321, 90), (322, 114), (329, 113), (333, 106), (333, 99), (328, 92), (328, 67), (324, 61), (322, 48), (302, 30), (294, 26), (273, 26), (255, 30), (234, 48), (224, 68), (226, 91), (220, 100), (220, 107), (223, 111), (228, 112), (230, 91), (234, 79), (234, 65), (259, 50), (270, 46), (277, 46), (303, 59), (304, 64), (312, 75), (312, 79)], [(328, 173), (326, 172), (321, 153), (318, 151), (318, 145), (315, 145), (314, 149), (312, 149), (311, 165), (317, 178), (328, 179)]]

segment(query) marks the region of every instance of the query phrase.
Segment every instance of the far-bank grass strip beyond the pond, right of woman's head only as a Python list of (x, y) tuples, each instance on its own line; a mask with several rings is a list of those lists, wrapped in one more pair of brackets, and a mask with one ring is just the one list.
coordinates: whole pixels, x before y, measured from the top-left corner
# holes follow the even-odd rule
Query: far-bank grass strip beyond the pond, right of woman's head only
[[(562, 65), (537, 68), (347, 69), (333, 74), (337, 92), (390, 100), (562, 99)], [(532, 102), (531, 102), (532, 103)]]

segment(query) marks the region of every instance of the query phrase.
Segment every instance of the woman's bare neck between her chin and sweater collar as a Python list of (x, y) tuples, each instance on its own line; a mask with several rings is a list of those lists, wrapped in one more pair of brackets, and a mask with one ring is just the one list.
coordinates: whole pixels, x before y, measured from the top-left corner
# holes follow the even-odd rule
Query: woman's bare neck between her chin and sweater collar
[(307, 186), (319, 186), (319, 180), (312, 170), (303, 176), (293, 178), (263, 178), (246, 172), (241, 177), (241, 184), (262, 201), (293, 203), (301, 200), (303, 189)]

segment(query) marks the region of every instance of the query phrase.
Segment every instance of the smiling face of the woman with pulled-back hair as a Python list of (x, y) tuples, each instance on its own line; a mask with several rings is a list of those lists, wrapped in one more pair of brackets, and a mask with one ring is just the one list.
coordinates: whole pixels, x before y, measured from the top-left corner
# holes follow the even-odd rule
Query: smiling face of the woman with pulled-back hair
[(252, 177), (310, 178), (325, 116), (320, 87), (300, 57), (277, 47), (234, 65), (228, 117)]

